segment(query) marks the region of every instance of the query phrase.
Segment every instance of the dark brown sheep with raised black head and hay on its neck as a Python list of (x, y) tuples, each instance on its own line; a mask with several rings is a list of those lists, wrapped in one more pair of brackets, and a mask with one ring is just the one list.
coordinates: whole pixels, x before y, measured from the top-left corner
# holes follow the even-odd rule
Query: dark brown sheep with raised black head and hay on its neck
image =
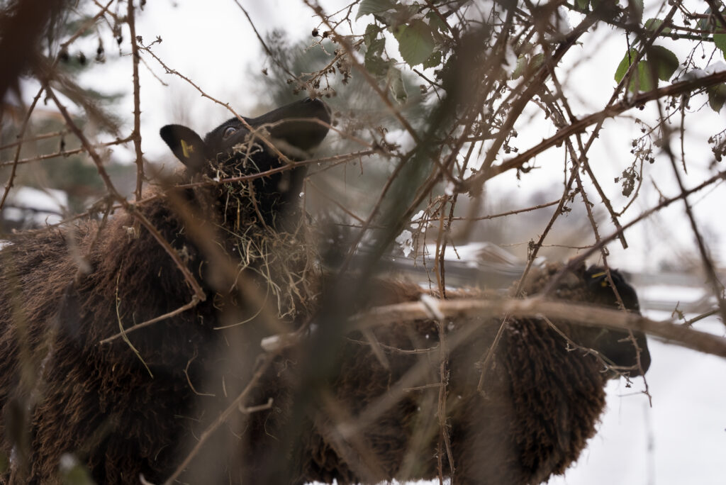
[[(245, 119), (301, 160), (327, 134), (330, 112), (306, 99)], [(0, 450), (12, 461), (0, 481), (60, 481), (65, 454), (99, 484), (163, 481), (213, 419), (213, 399), (199, 394), (244, 385), (239, 369), (253, 367), (259, 339), (280, 331), (268, 323), (306, 304), (286, 286), (309, 279), (299, 218), (287, 210), (305, 167), (282, 170), (236, 118), (204, 140), (178, 125), (161, 136), (187, 166), (183, 182), (200, 183), (158, 192), (135, 211), (176, 250), (203, 301), (99, 343), (201, 298), (151, 232), (134, 229), (131, 213), (113, 216), (98, 236), (89, 221), (13, 240), (0, 252)], [(205, 183), (275, 168), (252, 183)], [(215, 330), (248, 319), (254, 325)], [(223, 366), (226, 355), (238, 365)]]

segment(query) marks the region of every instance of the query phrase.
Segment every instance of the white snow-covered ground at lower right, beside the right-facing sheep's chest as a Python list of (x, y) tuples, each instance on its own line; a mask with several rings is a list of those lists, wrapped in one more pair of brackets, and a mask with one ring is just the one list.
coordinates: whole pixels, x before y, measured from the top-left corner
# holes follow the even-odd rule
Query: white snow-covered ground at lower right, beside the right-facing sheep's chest
[[(652, 318), (664, 314), (649, 315)], [(723, 335), (716, 319), (699, 330)], [(622, 381), (608, 385), (608, 409), (579, 461), (552, 485), (724, 484), (726, 360), (667, 343), (648, 342), (646, 375), (653, 405)]]

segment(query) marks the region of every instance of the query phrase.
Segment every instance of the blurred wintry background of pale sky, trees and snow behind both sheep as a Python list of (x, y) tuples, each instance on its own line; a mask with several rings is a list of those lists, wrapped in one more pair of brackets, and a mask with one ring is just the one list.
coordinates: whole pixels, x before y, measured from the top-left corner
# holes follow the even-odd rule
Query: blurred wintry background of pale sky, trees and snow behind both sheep
[[(139, 64), (141, 147), (150, 176), (144, 184), (152, 183), (152, 174), (180, 168), (158, 136), (160, 126), (180, 123), (203, 134), (232, 117), (225, 104), (240, 115), (254, 116), (309, 94), (299, 89), (280, 66), (296, 76), (314, 73), (334, 60), (339, 47), (322, 38), (328, 28), (321, 25), (314, 9), (306, 3), (155, 0), (144, 4), (136, 19), (138, 44), (147, 46), (140, 53)], [(489, 18), (486, 12), (498, 8), (497, 2), (458, 3), (460, 23)], [(689, 12), (706, 12), (696, 2), (681, 3)], [(356, 19), (356, 3), (317, 4), (328, 15), (337, 12), (334, 18), (339, 22), (338, 35), (350, 36), (351, 42), (362, 37), (371, 21), (370, 15)], [(557, 17), (560, 35), (582, 22), (585, 15), (574, 8), (579, 4), (582, 2), (571, 2), (568, 5), (573, 8)], [(621, 4), (627, 6), (628, 2)], [(645, 2), (643, 18), (663, 17), (666, 6), (665, 1)], [(527, 3), (526, 7), (531, 5)], [(125, 11), (126, 4), (120, 1), (79, 1), (54, 23), (57, 31), (47, 39), (47, 49), (57, 55), (58, 69), (65, 76), (57, 87), (62, 101), (80, 120), (84, 134), (94, 144), (102, 145), (108, 174), (119, 192), (131, 199), (136, 189), (136, 152), (131, 142), (116, 142), (129, 136), (134, 127), (130, 34), (121, 22)], [(94, 17), (93, 28), (64, 46), (79, 26)], [(703, 42), (702, 38), (686, 43), (686, 37), (658, 38), (658, 44), (667, 47), (679, 61), (672, 83), (696, 76), (693, 72), (697, 69), (705, 72), (710, 66), (718, 70), (719, 63), (723, 63), (723, 54), (718, 50), (714, 53), (713, 43)], [(558, 89), (566, 92), (575, 119), (608, 105), (618, 84), (616, 70), (632, 40), (622, 30), (599, 25), (587, 31), (581, 43), (559, 62)], [(386, 49), (391, 57), (399, 56), (393, 36), (386, 37)], [(534, 51), (523, 51), (514, 57), (514, 63), (534, 56)], [(364, 60), (363, 54), (360, 60)], [(367, 150), (358, 158), (351, 156), (346, 163), (312, 166), (301, 194), (311, 218), (325, 222), (320, 225), (324, 232), (321, 252), (327, 264), (335, 266), (346, 257), (358, 228), (393, 172), (393, 158), (380, 156), (380, 152), (405, 152), (414, 142), (364, 76), (340, 60), (331, 67), (335, 72), (319, 78), (316, 87), (317, 94), (333, 108), (339, 132), (328, 136), (317, 156)], [(425, 127), (439, 93), (436, 82), (428, 82), (435, 78), (436, 69), (402, 65), (402, 86), (391, 87), (391, 81), (386, 86), (393, 97), (398, 94), (397, 109), (416, 129)], [(519, 82), (515, 65), (510, 61), (503, 69), (510, 76), (497, 89), (515, 91)], [(0, 182), (5, 186), (12, 177), (14, 183), (7, 190), (0, 212), (0, 238), (14, 231), (57, 224), (77, 214), (97, 216), (105, 197), (106, 189), (96, 167), (46, 99), (41, 97), (36, 103), (25, 132), (28, 142), (17, 150), (18, 130), (40, 86), (37, 78), (25, 76), (10, 86), (3, 99)], [(709, 94), (694, 94), (689, 99), (685, 95), (664, 96), (661, 101), (605, 119), (588, 152), (593, 177), (602, 184), (600, 189), (614, 210), (619, 211), (621, 224), (680, 193), (668, 155), (662, 150), (663, 143), (677, 152), (679, 164), (683, 160), (679, 170), (687, 188), (696, 187), (723, 169), (718, 155), (726, 123), (720, 107), (713, 108)], [(541, 97), (523, 110), (497, 163), (558, 132), (560, 126), (553, 122), (557, 114), (546, 106), (547, 100)], [(385, 256), (389, 272), (436, 287), (432, 261), (441, 216), (439, 197), (456, 192), (454, 217), (446, 234), (446, 285), (502, 289), (521, 276), (533, 245), (545, 232), (563, 197), (563, 182), (570, 173), (569, 155), (563, 147), (553, 147), (531, 158), (525, 169), (504, 171), (487, 180), (476, 196), (457, 192), (460, 186), (454, 182), (476, 173), (491, 142), (481, 139), (479, 144), (468, 145), (466, 148), (474, 151), (470, 165), (457, 166), (452, 180), (436, 184), (421, 201)], [(590, 195), (592, 218), (597, 221), (600, 236), (610, 235), (616, 227), (598, 190), (592, 179), (584, 179), (583, 184)], [(689, 202), (714, 272), (723, 281), (726, 225), (722, 222), (722, 208), (726, 206), (726, 190), (722, 182), (714, 182), (691, 195)], [(492, 217), (524, 208), (534, 209)], [(566, 261), (595, 241), (582, 197), (570, 197), (566, 208), (548, 230), (536, 261)], [(704, 269), (693, 224), (680, 201), (635, 224), (625, 236), (627, 248), (619, 240), (607, 245), (608, 264), (627, 274), (637, 288), (646, 317), (685, 322), (714, 313), (717, 296)], [(362, 253), (369, 242), (364, 237)], [(595, 253), (590, 263), (602, 264), (602, 258)], [(723, 322), (715, 315), (699, 320), (694, 327), (724, 335)], [(653, 364), (646, 379), (652, 400), (643, 394), (643, 378), (637, 378), (631, 387), (626, 387), (623, 380), (611, 381), (608, 412), (603, 415), (599, 432), (576, 465), (550, 483), (723, 483), (726, 361), (656, 339), (650, 340), (650, 351)]]

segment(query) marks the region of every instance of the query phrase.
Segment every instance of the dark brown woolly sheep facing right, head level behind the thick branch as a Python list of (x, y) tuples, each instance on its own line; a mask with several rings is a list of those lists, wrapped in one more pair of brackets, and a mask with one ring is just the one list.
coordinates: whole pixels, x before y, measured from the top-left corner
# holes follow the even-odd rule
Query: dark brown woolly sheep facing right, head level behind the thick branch
[[(560, 265), (537, 270), (525, 285), (529, 294), (541, 290)], [(637, 310), (635, 292), (617, 272), (613, 279), (621, 298)], [(560, 282), (558, 298), (568, 301), (616, 306), (610, 287), (603, 285), (600, 269), (584, 266), (568, 273)], [(375, 282), (370, 304), (416, 301), (425, 293), (417, 285), (404, 282)], [(452, 298), (481, 297), (476, 292), (454, 292)], [(489, 295), (492, 297), (492, 295)], [(468, 324), (451, 322), (447, 333), (453, 339)], [(555, 322), (558, 330), (581, 345), (611, 357), (615, 364), (633, 367), (638, 375), (635, 348), (621, 342), (627, 333), (601, 328)], [(489, 349), (499, 322), (477, 325), (465, 343), (449, 355), (447, 408), (449, 433), (454, 457), (454, 484), (537, 484), (552, 474), (563, 473), (595, 433), (595, 424), (605, 406), (605, 382), (611, 377), (595, 356), (574, 350), (571, 344), (538, 319), (513, 319), (507, 325), (494, 364), (486, 374), (484, 396), (477, 391), (478, 362)], [(285, 424), (286, 389), (298, 380), (294, 351), (283, 356), (261, 389), (262, 396), (276, 396), (278, 412), (260, 413), (252, 423), (266, 423), (245, 449), (250, 457), (247, 483), (266, 476), (269, 452), (276, 450), (292, 463), (290, 480), (304, 484), (322, 481), (338, 484), (375, 483), (390, 478), (436, 478), (436, 455), (445, 453), (440, 446), (437, 411), (438, 388), (403, 393), (371, 423), (359, 430), (361, 435), (340, 440), (335, 418), (347, 416), (349, 423), (364, 416), (372, 403), (390, 395), (396, 383), (417, 365), (423, 365), (422, 378), (410, 387), (438, 383), (439, 330), (435, 322), (417, 321), (376, 327), (375, 339), (386, 352), (389, 368), (380, 364), (362, 335), (348, 335), (340, 349), (340, 370), (331, 383), (334, 409), (309, 412), (303, 424), (303, 442), (280, 449), (274, 441)], [(648, 369), (645, 336), (636, 333), (642, 349), (643, 370)], [(414, 349), (432, 349), (412, 354)], [(284, 364), (281, 364), (284, 362)], [(280, 392), (277, 395), (276, 392)], [(274, 419), (270, 419), (274, 417)], [(255, 425), (251, 424), (254, 429)], [(280, 431), (282, 432), (282, 431)], [(269, 447), (269, 448), (268, 448)], [(365, 455), (369, 456), (365, 456)], [(275, 456), (274, 454), (272, 455)], [(277, 455), (279, 456), (279, 455)], [(274, 461), (274, 459), (273, 459)], [(444, 475), (449, 474), (444, 456)], [(256, 466), (257, 465), (257, 466)], [(279, 465), (278, 465), (279, 466)]]

